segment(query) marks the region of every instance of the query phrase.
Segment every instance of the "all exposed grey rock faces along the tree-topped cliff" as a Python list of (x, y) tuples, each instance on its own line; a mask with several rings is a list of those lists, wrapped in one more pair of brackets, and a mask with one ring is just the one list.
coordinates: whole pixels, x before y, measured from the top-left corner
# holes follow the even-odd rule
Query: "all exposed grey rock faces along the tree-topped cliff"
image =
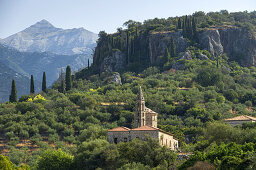
[[(184, 53), (191, 45), (189, 40), (182, 36), (181, 31), (154, 32), (147, 38), (148, 58), (151, 65), (157, 63), (160, 56), (164, 55), (171, 38), (175, 42), (177, 56)], [(197, 39), (200, 48), (209, 51), (213, 57), (226, 53), (230, 60), (237, 61), (243, 66), (256, 65), (256, 38), (245, 28), (236, 26), (207, 28), (197, 34)], [(111, 72), (125, 69), (127, 66), (126, 55), (125, 52), (118, 51), (104, 56), (100, 64), (100, 71)]]

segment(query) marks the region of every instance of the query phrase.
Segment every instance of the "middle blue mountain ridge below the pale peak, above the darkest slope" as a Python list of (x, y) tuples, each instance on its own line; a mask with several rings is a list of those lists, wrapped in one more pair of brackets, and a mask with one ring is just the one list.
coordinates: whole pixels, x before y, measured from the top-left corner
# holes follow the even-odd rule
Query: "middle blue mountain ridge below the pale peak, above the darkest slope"
[(86, 67), (90, 56), (86, 54), (58, 55), (49, 52), (20, 52), (0, 45), (0, 62), (24, 76), (34, 75), (41, 81), (43, 72), (47, 75), (47, 85), (51, 85), (67, 65), (72, 71)]

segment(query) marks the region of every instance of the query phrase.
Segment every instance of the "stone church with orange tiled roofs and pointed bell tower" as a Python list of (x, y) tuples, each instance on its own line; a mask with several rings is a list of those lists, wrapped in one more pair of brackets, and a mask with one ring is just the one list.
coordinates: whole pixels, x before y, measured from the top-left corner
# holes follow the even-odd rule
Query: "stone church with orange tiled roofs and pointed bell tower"
[(108, 130), (108, 142), (117, 144), (119, 142), (129, 142), (135, 138), (145, 140), (148, 136), (158, 140), (162, 146), (171, 150), (178, 150), (178, 140), (172, 134), (157, 128), (157, 115), (158, 113), (145, 106), (145, 99), (140, 87), (134, 114), (135, 128), (117, 127)]

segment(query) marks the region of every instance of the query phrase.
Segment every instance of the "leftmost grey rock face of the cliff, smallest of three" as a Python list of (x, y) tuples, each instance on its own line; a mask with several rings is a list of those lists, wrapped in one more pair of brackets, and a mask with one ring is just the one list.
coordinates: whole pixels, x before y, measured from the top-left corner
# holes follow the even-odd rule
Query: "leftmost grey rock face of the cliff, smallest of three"
[(101, 72), (120, 71), (125, 68), (125, 54), (115, 51), (112, 55), (106, 56), (101, 64)]

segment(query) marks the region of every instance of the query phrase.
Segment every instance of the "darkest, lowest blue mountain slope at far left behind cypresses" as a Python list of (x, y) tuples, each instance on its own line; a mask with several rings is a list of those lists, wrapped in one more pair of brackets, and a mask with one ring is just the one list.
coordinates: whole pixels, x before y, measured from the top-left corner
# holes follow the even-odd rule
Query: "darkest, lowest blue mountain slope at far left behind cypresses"
[[(30, 79), (23, 74), (14, 71), (10, 67), (0, 62), (0, 102), (5, 102), (9, 99), (11, 93), (12, 79), (16, 82), (17, 95), (20, 97), (23, 94), (29, 94)], [(35, 91), (38, 92), (40, 83), (35, 81)]]

